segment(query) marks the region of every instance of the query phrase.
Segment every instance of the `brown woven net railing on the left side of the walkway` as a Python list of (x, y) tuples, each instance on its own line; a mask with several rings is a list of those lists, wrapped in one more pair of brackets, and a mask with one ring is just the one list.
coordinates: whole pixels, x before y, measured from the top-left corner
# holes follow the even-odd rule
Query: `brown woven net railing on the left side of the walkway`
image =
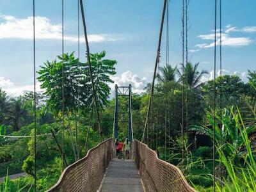
[(114, 142), (109, 138), (88, 150), (85, 157), (65, 168), (58, 182), (48, 191), (97, 191), (115, 154)]

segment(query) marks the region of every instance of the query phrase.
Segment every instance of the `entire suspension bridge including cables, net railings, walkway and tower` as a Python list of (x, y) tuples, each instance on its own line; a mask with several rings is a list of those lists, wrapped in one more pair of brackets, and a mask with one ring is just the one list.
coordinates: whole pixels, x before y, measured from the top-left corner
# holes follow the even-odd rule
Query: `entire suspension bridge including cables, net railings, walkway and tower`
[[(159, 65), (161, 39), (164, 25), (164, 18), (166, 11), (168, 14), (168, 1), (164, 0), (163, 12), (161, 15), (161, 24), (159, 30), (159, 41), (157, 44), (156, 61), (154, 65), (154, 76), (152, 79), (150, 99), (148, 102), (147, 116), (145, 119), (142, 138), (134, 138), (132, 131), (132, 87), (115, 86), (115, 114), (113, 120), (113, 138), (103, 140), (102, 130), (100, 128), (100, 112), (99, 104), (97, 103), (97, 90), (95, 89), (95, 82), (93, 82), (93, 72), (90, 61), (90, 49), (86, 31), (86, 19), (84, 16), (83, 1), (79, 1), (79, 8), (81, 10), (84, 38), (86, 42), (86, 56), (88, 66), (90, 69), (90, 78), (92, 81), (93, 103), (97, 111), (97, 121), (99, 134), (102, 142), (96, 147), (88, 150), (86, 156), (70, 164), (61, 173), (58, 182), (52, 186), (48, 191), (195, 191), (187, 182), (177, 166), (167, 163), (157, 157), (157, 152), (148, 147), (145, 143), (145, 134), (147, 124), (150, 120), (150, 108), (154, 95), (155, 79), (157, 74), (157, 66)], [(216, 9), (216, 8), (215, 8)], [(34, 65), (35, 65), (35, 0), (33, 1), (33, 29), (34, 29)], [(63, 0), (62, 0), (62, 19), (63, 19)], [(168, 19), (168, 17), (167, 17)], [(184, 7), (183, 7), (183, 29), (184, 29)], [(215, 18), (216, 22), (216, 18)], [(63, 20), (62, 20), (63, 27)], [(184, 31), (183, 31), (184, 37)], [(62, 33), (62, 42), (63, 42)], [(167, 38), (168, 39), (168, 38)], [(216, 27), (215, 27), (215, 46), (216, 46)], [(183, 38), (184, 50), (184, 38)], [(63, 47), (62, 47), (62, 53)], [(216, 57), (216, 53), (215, 53)], [(188, 58), (187, 58), (188, 60)], [(183, 52), (183, 68), (184, 68), (184, 52)], [(35, 72), (35, 70), (34, 70)], [(36, 82), (36, 79), (35, 79)], [(183, 84), (184, 85), (184, 84)], [(63, 86), (64, 87), (64, 86)], [(35, 90), (36, 93), (36, 90)], [(64, 93), (62, 94), (64, 97)], [(184, 96), (184, 93), (183, 93)], [(129, 110), (122, 112), (118, 109), (118, 98), (127, 97)], [(35, 95), (36, 99), (36, 95)], [(63, 98), (64, 100), (64, 98)], [(36, 102), (35, 102), (36, 103)], [(63, 104), (64, 105), (64, 104)], [(35, 106), (36, 109), (36, 106)], [(184, 110), (184, 102), (182, 100), (182, 112)], [(64, 115), (64, 106), (63, 113)], [(182, 113), (183, 115), (184, 113)], [(64, 121), (64, 116), (63, 116)], [(118, 123), (127, 122), (128, 135), (127, 138), (131, 142), (131, 152), (129, 153), (129, 160), (117, 159), (115, 154), (115, 139), (118, 138)], [(35, 127), (36, 127), (36, 111), (35, 111)], [(64, 129), (63, 123), (63, 129)], [(166, 140), (165, 126), (165, 140)], [(182, 137), (184, 137), (184, 122), (182, 116)], [(64, 130), (63, 130), (64, 132)], [(36, 131), (35, 131), (35, 163), (36, 163)], [(140, 140), (141, 139), (141, 140)], [(213, 140), (214, 141), (214, 140)], [(63, 143), (62, 143), (63, 144)], [(213, 145), (214, 146), (214, 145)], [(64, 144), (62, 145), (62, 159), (64, 161)], [(60, 146), (61, 148), (61, 146)], [(166, 148), (166, 141), (165, 141)], [(65, 163), (63, 162), (63, 165)], [(36, 175), (36, 166), (35, 166)], [(36, 178), (35, 178), (36, 191)]]

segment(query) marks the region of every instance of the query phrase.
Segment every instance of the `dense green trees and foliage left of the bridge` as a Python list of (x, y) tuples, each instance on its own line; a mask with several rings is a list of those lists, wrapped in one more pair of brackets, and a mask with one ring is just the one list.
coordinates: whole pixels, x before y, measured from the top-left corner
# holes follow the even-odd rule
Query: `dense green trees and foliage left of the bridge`
[[(93, 81), (101, 110), (109, 105), (108, 84), (113, 83), (110, 76), (115, 74), (116, 65), (115, 60), (105, 60), (105, 56), (106, 52), (91, 54)], [(45, 191), (58, 180), (62, 172), (62, 142), (67, 166), (83, 157), (89, 148), (99, 143), (100, 139), (97, 120), (93, 113), (92, 83), (87, 63), (79, 62), (72, 52), (64, 54), (63, 58), (58, 56), (57, 60), (45, 62), (38, 74), (38, 80), (42, 83), (41, 88), (45, 92), (36, 93), (36, 188), (38, 191)], [(0, 185), (0, 190), (29, 190), (35, 176), (34, 95), (28, 92), (17, 99), (10, 99), (0, 90), (0, 99), (1, 135), (16, 136), (0, 138), (0, 176), (6, 175), (7, 170), (8, 174), (28, 174), (28, 177), (17, 180), (7, 179), (5, 184), (8, 185)], [(101, 122), (106, 137), (110, 136), (109, 127), (113, 123), (109, 118), (113, 113), (109, 114), (111, 115), (108, 115), (106, 110)]]

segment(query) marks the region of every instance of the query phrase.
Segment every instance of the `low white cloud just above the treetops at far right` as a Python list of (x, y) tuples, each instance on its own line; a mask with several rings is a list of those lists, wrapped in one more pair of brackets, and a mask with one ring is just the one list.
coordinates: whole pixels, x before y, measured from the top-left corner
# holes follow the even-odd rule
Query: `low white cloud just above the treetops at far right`
[[(221, 72), (222, 72), (222, 73), (221, 73)], [(240, 77), (240, 78), (242, 79), (242, 81), (244, 81), (244, 82), (247, 82), (247, 81), (248, 81), (248, 79), (247, 79), (247, 73), (246, 73), (246, 72), (239, 72), (239, 71), (230, 72), (230, 71), (228, 71), (228, 70), (223, 69), (223, 70), (218, 70), (218, 71), (216, 72), (216, 77), (220, 77), (221, 74), (222, 74), (222, 76), (225, 76), (225, 75), (230, 75), (230, 76), (231, 76), (231, 75), (235, 75), (235, 76)], [(214, 71), (212, 70), (211, 72), (209, 72), (209, 74), (205, 74), (205, 75), (202, 77), (201, 81), (202, 81), (202, 82), (206, 82), (206, 81), (212, 80), (213, 78), (214, 78)]]

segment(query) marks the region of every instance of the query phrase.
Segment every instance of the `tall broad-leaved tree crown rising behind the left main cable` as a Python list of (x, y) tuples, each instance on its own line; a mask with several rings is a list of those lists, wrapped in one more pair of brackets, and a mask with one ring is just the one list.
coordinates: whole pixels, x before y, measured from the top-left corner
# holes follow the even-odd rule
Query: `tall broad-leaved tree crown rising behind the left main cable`
[[(108, 103), (110, 88), (108, 83), (114, 75), (115, 60), (103, 60), (106, 52), (91, 54), (93, 81), (100, 108)], [(62, 60), (64, 63), (62, 63)], [(89, 68), (85, 63), (79, 63), (74, 57), (74, 52), (58, 56), (58, 61), (47, 61), (40, 67), (38, 80), (42, 82), (41, 88), (45, 89), (45, 95), (49, 97), (47, 103), (49, 108), (57, 114), (62, 109), (62, 84), (64, 84), (64, 106), (65, 111), (76, 110), (78, 104), (92, 108), (93, 93), (92, 83), (89, 76)], [(62, 67), (64, 76), (62, 78)]]

